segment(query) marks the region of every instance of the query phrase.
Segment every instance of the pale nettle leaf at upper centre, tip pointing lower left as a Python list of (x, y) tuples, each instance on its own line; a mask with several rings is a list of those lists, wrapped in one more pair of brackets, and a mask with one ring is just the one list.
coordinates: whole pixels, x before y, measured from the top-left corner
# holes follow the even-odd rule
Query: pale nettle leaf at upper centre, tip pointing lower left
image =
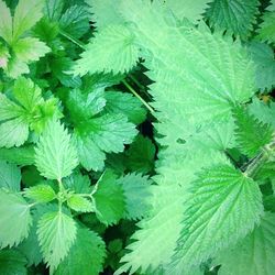
[(91, 38), (74, 66), (75, 75), (129, 72), (139, 58), (134, 35), (124, 25), (108, 25)]

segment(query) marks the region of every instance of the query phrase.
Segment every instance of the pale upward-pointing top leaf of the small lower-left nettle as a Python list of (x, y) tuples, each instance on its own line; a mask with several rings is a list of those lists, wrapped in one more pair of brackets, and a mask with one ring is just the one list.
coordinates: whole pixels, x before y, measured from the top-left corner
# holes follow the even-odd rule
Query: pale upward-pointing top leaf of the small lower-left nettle
[(51, 121), (35, 147), (35, 165), (41, 175), (62, 180), (78, 165), (70, 135), (59, 121)]

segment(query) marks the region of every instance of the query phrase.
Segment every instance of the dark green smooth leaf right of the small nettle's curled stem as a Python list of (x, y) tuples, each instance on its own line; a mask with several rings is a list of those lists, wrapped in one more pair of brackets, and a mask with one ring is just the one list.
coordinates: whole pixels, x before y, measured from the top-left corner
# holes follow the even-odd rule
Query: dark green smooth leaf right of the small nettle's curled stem
[(111, 172), (105, 173), (97, 183), (96, 200), (97, 217), (106, 223), (117, 223), (124, 215), (125, 198), (121, 185)]

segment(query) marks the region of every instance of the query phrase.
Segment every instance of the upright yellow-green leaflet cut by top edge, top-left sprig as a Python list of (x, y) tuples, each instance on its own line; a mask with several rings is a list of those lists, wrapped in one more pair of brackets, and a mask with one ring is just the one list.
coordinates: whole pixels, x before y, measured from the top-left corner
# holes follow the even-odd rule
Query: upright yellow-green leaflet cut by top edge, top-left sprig
[(44, 0), (20, 0), (13, 18), (13, 41), (29, 31), (43, 16)]

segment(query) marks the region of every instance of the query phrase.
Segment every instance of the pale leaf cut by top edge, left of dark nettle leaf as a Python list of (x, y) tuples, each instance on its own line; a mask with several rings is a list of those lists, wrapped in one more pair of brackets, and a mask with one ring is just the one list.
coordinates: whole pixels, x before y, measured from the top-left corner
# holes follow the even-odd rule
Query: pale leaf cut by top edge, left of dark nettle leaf
[(197, 0), (197, 1), (180, 1), (180, 0), (164, 0), (165, 6), (173, 11), (178, 19), (187, 18), (196, 23), (202, 19), (202, 13), (208, 8), (208, 3), (212, 0)]

